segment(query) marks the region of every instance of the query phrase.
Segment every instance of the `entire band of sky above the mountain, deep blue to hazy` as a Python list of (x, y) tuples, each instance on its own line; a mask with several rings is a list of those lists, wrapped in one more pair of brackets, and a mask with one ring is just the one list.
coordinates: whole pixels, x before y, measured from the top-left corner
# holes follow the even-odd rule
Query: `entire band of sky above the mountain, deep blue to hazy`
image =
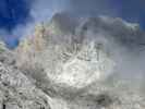
[[(48, 8), (47, 11), (44, 8)], [(17, 45), (17, 38), (11, 35), (17, 25), (39, 19), (31, 13), (33, 9), (36, 16), (48, 16), (45, 14), (56, 12), (55, 9), (64, 9), (77, 15), (117, 16), (140, 23), (145, 29), (145, 0), (1, 0), (0, 28), (9, 34), (3, 37), (10, 47)]]

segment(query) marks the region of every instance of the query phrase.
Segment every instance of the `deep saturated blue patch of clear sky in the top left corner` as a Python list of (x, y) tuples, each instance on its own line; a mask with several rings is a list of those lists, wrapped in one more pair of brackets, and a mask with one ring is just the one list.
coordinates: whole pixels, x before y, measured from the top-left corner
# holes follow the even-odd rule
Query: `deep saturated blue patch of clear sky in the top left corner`
[(25, 0), (0, 1), (0, 27), (11, 31), (20, 23), (26, 23), (29, 8)]

